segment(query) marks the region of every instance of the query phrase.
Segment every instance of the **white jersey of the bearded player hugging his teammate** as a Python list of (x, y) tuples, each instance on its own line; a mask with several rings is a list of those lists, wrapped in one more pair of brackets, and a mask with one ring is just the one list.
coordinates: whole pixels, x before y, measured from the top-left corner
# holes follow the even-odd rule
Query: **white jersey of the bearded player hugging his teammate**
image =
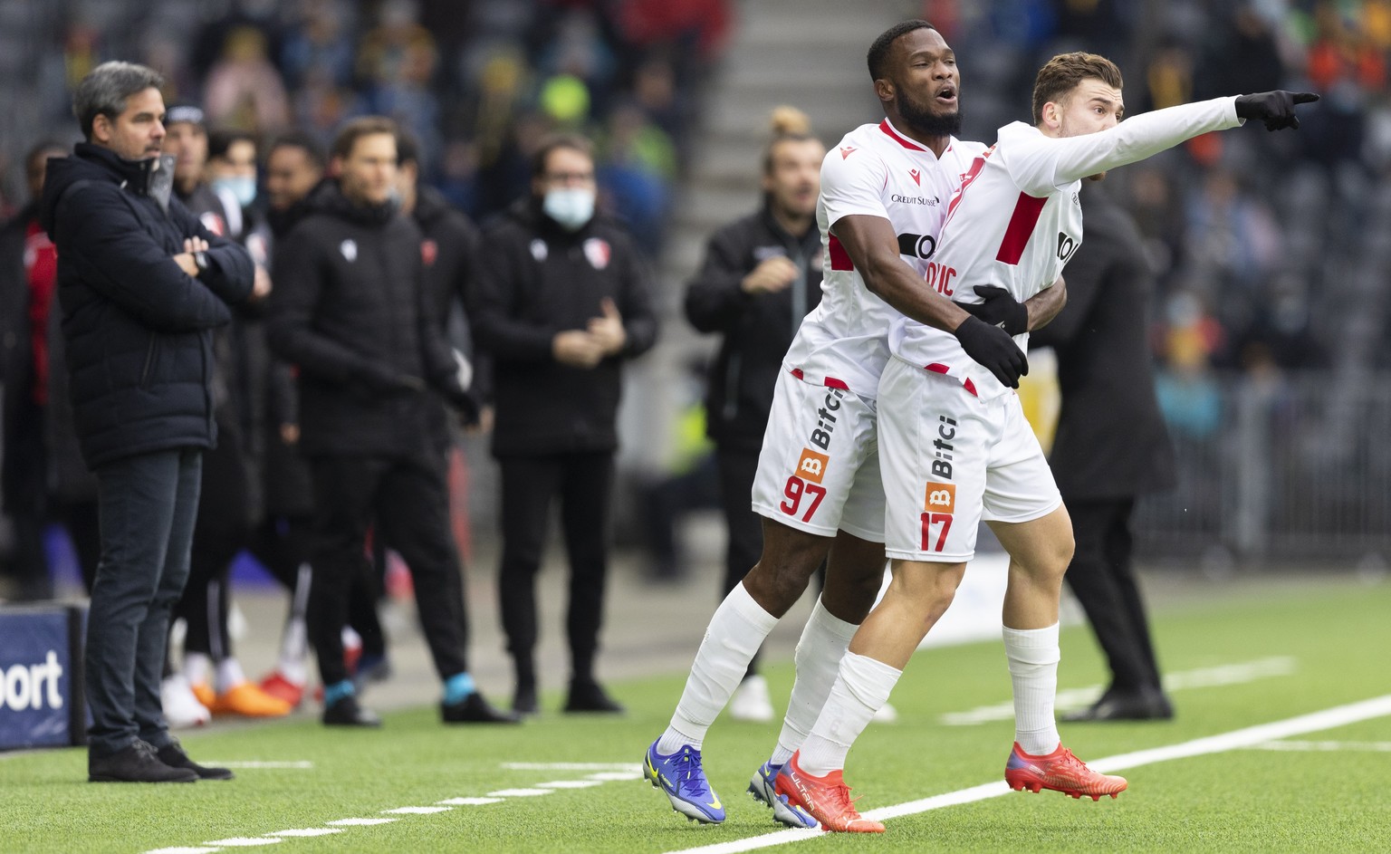
[(940, 160), (883, 120), (860, 125), (821, 163), (821, 303), (807, 314), (783, 364), (808, 382), (878, 395), (889, 360), (887, 335), (899, 314), (869, 292), (830, 227), (844, 216), (883, 217), (899, 235), (899, 253), (918, 275), (938, 248), (947, 203), (978, 142), (951, 139)]

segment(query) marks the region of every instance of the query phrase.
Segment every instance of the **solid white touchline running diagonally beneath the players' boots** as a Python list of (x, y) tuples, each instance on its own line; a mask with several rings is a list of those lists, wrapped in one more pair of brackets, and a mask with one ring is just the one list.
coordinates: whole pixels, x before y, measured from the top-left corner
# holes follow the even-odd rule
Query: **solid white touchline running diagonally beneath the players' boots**
[[(1102, 772), (1123, 771), (1127, 768), (1149, 765), (1152, 762), (1167, 762), (1168, 759), (1184, 759), (1188, 757), (1200, 757), (1205, 754), (1217, 754), (1228, 750), (1253, 747), (1256, 744), (1264, 744), (1273, 739), (1314, 733), (1372, 718), (1384, 718), (1387, 715), (1391, 715), (1391, 694), (1334, 707), (1321, 712), (1299, 715), (1298, 718), (1287, 718), (1285, 720), (1260, 723), (1257, 726), (1248, 726), (1230, 733), (1193, 739), (1192, 741), (1182, 741), (1180, 744), (1170, 744), (1167, 747), (1153, 747), (1149, 750), (1136, 750), (1128, 754), (1117, 754), (1114, 757), (1106, 757), (1095, 762), (1088, 762), (1088, 765), (1092, 769)], [(885, 821), (904, 815), (917, 815), (929, 809), (940, 809), (943, 807), (956, 807), (958, 804), (983, 801), (1007, 793), (1010, 793), (1008, 783), (1004, 780), (996, 780), (995, 783), (972, 786), (971, 789), (961, 789), (958, 791), (947, 791), (944, 794), (908, 801), (906, 804), (881, 807), (879, 809), (865, 812), (864, 816)], [(775, 830), (773, 833), (764, 833), (762, 836), (737, 839), (712, 846), (676, 848), (669, 854), (676, 854), (676, 851), (680, 851), (682, 854), (740, 854), (741, 851), (753, 851), (755, 848), (769, 848), (772, 846), (817, 839), (825, 833), (826, 830)]]

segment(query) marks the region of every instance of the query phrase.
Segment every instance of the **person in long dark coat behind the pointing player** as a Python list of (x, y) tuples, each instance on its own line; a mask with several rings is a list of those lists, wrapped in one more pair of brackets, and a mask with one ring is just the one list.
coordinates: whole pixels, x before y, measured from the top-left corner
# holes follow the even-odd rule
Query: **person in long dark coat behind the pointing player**
[(1049, 465), (1072, 517), (1072, 588), (1111, 668), (1111, 684), (1070, 720), (1164, 719), (1145, 604), (1131, 566), (1135, 497), (1174, 485), (1174, 452), (1155, 398), (1146, 302), (1153, 274), (1139, 231), (1084, 182), (1086, 241), (1067, 264), (1067, 307), (1032, 332), (1057, 351), (1063, 409)]

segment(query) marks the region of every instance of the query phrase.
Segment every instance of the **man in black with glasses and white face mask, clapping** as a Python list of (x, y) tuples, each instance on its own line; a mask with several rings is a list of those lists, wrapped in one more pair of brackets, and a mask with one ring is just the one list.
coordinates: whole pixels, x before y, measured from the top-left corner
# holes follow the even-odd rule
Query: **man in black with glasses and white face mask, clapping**
[(531, 196), (484, 231), (472, 305), (492, 359), (502, 469), (502, 627), (513, 709), (537, 711), (536, 574), (559, 495), (570, 559), (570, 712), (619, 712), (594, 679), (608, 574), (609, 491), (623, 360), (657, 339), (650, 274), (629, 234), (594, 214), (594, 157), (579, 136), (547, 140)]

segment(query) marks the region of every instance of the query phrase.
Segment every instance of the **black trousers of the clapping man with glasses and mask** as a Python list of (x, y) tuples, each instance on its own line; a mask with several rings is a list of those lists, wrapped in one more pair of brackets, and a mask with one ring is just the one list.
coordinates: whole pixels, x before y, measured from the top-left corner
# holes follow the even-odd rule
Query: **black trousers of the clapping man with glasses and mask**
[(545, 547), (547, 516), (556, 497), (570, 561), (570, 601), (565, 620), (570, 676), (579, 682), (591, 680), (604, 622), (613, 453), (501, 456), (498, 463), (502, 474), (498, 595), (517, 682), (536, 680), (536, 576)]

